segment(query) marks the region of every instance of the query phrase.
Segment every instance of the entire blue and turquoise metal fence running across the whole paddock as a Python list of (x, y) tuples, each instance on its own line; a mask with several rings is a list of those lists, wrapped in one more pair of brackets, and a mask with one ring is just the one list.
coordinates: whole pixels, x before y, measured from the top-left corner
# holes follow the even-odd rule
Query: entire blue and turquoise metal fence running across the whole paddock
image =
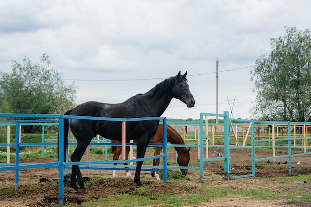
[[(208, 134), (204, 134), (204, 126), (208, 127), (208, 123), (204, 123), (204, 116), (218, 116), (218, 117), (223, 117), (224, 123), (223, 123), (223, 140), (224, 143), (223, 145), (204, 145), (204, 140), (209, 140)], [(14, 120), (14, 121), (7, 121), (7, 122), (0, 122), (0, 126), (3, 125), (13, 125), (16, 127), (16, 143), (15, 144), (1, 144), (0, 147), (5, 147), (5, 146), (15, 146), (16, 148), (16, 162), (14, 166), (9, 166), (9, 165), (4, 165), (0, 167), (1, 170), (15, 170), (15, 189), (18, 189), (18, 170), (19, 169), (25, 169), (25, 168), (33, 168), (33, 167), (51, 167), (51, 168), (58, 168), (59, 169), (59, 204), (62, 205), (64, 203), (64, 170), (70, 168), (71, 165), (73, 164), (79, 164), (81, 165), (81, 168), (87, 168), (87, 169), (116, 169), (116, 170), (135, 170), (135, 165), (134, 166), (118, 166), (116, 167), (113, 165), (114, 163), (126, 163), (126, 162), (135, 162), (135, 161), (141, 161), (141, 160), (147, 160), (147, 159), (153, 159), (153, 158), (158, 158), (158, 157), (163, 157), (163, 166), (143, 166), (142, 170), (145, 171), (163, 171), (164, 173), (164, 181), (167, 179), (167, 168), (177, 168), (180, 169), (181, 167), (176, 167), (176, 166), (167, 166), (167, 159), (166, 159), (166, 154), (167, 154), (167, 146), (171, 147), (181, 147), (180, 145), (166, 145), (167, 140), (166, 140), (166, 118), (161, 118), (161, 117), (149, 117), (149, 118), (135, 118), (135, 119), (122, 119), (122, 118), (104, 118), (104, 117), (86, 117), (86, 116), (69, 116), (69, 115), (62, 115), (62, 114), (0, 114), (0, 117), (28, 117), (28, 118), (48, 118), (48, 119), (41, 119), (41, 120)], [(63, 148), (63, 123), (64, 123), (64, 118), (75, 118), (75, 119), (90, 119), (90, 120), (109, 120), (109, 121), (142, 121), (142, 120), (163, 120), (163, 144), (156, 144), (156, 143), (150, 143), (150, 146), (158, 146), (161, 145), (163, 146), (163, 155), (157, 155), (157, 156), (151, 156), (151, 157), (145, 157), (145, 158), (140, 158), (140, 159), (130, 159), (130, 160), (106, 160), (105, 161), (81, 161), (81, 162), (64, 162), (63, 159), (60, 159), (58, 162), (50, 162), (50, 163), (40, 163), (40, 164), (20, 164), (19, 163), (19, 147), (22, 146), (58, 146), (59, 147), (59, 157), (64, 157), (64, 148)], [(207, 119), (205, 119), (207, 120)], [(230, 133), (231, 131), (231, 121), (235, 122), (243, 122), (243, 124), (247, 123), (251, 126), (251, 135), (250, 135), (250, 146), (239, 146), (239, 145), (230, 145)], [(37, 124), (37, 125), (59, 125), (59, 140), (60, 142), (57, 143), (20, 143), (19, 142), (19, 136), (20, 136), (20, 131), (19, 131), (19, 126), (20, 125), (31, 125), (31, 124)], [(175, 123), (177, 124), (177, 123)], [(182, 122), (179, 123), (181, 125), (197, 125), (198, 123), (190, 123), (190, 122)], [(301, 140), (302, 142), (306, 142), (311, 137), (304, 136), (304, 137), (298, 137), (298, 138), (293, 138), (291, 135), (291, 127), (293, 124), (309, 124), (311, 125), (311, 122), (272, 122), (272, 121), (254, 121), (254, 120), (242, 120), (242, 119), (231, 119), (229, 118), (229, 112), (225, 111), (224, 114), (215, 114), (215, 113), (200, 113), (200, 122), (199, 122), (199, 144), (198, 145), (183, 145), (183, 147), (193, 147), (193, 148), (198, 148), (199, 150), (199, 159), (200, 159), (200, 166), (199, 167), (182, 167), (182, 168), (187, 168), (187, 169), (194, 169), (194, 170), (200, 170), (200, 180), (203, 182), (204, 178), (204, 162), (208, 161), (219, 161), (223, 160), (224, 161), (224, 176), (225, 179), (236, 179), (236, 178), (242, 178), (242, 177), (254, 177), (255, 176), (255, 163), (258, 161), (262, 160), (268, 160), (268, 159), (278, 159), (278, 158), (288, 158), (289, 160), (289, 174), (291, 174), (291, 159), (294, 156), (300, 156), (300, 155), (309, 155), (311, 152), (307, 152), (306, 150), (310, 150), (311, 147), (307, 147), (306, 144), (304, 147), (302, 146), (293, 146), (291, 144), (292, 141), (294, 140)], [(238, 125), (238, 124), (237, 124)], [(260, 139), (256, 138), (255, 136), (255, 127), (261, 127), (261, 126), (266, 126), (266, 125), (287, 125), (287, 131), (288, 131), (288, 137), (287, 138), (278, 138), (275, 140), (271, 139)], [(177, 125), (176, 125), (177, 127)], [(43, 131), (44, 133), (44, 131)], [(44, 137), (44, 135), (43, 135)], [(245, 138), (246, 139), (246, 138)], [(255, 146), (256, 143), (261, 143), (261, 142), (275, 142), (275, 141), (285, 141), (287, 143), (286, 148), (288, 151), (287, 155), (273, 155), (270, 157), (263, 157), (263, 158), (256, 158), (255, 155), (255, 149), (258, 148), (267, 148), (267, 146)], [(69, 145), (76, 145), (76, 143), (69, 143)], [(111, 143), (107, 142), (100, 142), (100, 143), (90, 143), (91, 146), (110, 146), (112, 145)], [(113, 145), (121, 145), (118, 143), (113, 143)], [(135, 145), (135, 143), (128, 143), (127, 145)], [(208, 148), (215, 148), (215, 147), (221, 147), (223, 148), (224, 155), (222, 157), (213, 157), (213, 158), (208, 158), (204, 157), (204, 149), (207, 151)], [(278, 147), (275, 147), (278, 148)], [(297, 155), (292, 155), (291, 150), (292, 149), (304, 149), (304, 153), (299, 153)], [(231, 149), (250, 149), (251, 150), (251, 174), (245, 174), (245, 175), (240, 175), (240, 176), (231, 176), (231, 162), (230, 162), (230, 150)], [(107, 153), (106, 153), (107, 155)]]

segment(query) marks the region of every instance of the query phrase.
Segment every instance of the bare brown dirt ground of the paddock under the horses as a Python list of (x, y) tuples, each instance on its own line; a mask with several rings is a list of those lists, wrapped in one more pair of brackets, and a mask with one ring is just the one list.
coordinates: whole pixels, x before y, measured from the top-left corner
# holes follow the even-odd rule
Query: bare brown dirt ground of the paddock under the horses
[[(210, 149), (209, 155), (212, 157), (213, 150)], [(220, 151), (221, 152), (221, 151)], [(191, 160), (198, 159), (197, 149), (191, 149)], [(292, 151), (292, 154), (301, 153), (301, 151)], [(245, 169), (245, 166), (251, 167), (251, 156), (249, 156), (250, 150), (245, 149), (232, 149), (230, 151), (231, 156), (231, 166), (234, 168), (232, 170), (232, 175), (245, 175), (250, 174), (250, 170)], [(261, 157), (270, 157), (272, 156), (271, 152), (258, 150), (255, 152), (256, 158)], [(278, 155), (286, 155), (285, 150), (279, 150), (277, 152)], [(152, 153), (149, 153), (152, 155)], [(98, 160), (102, 159), (98, 157)], [(168, 159), (175, 159), (175, 151), (168, 151)], [(196, 164), (192, 163), (190, 160), (189, 166), (196, 166)], [(200, 191), (200, 186), (223, 186), (226, 188), (230, 188), (233, 190), (239, 189), (247, 189), (251, 186), (251, 188), (258, 189), (269, 189), (269, 191), (273, 192), (292, 192), (297, 190), (311, 191), (311, 183), (308, 182), (295, 182), (295, 183), (274, 183), (273, 181), (269, 181), (269, 183), (265, 183), (261, 178), (269, 178), (269, 177), (281, 177), (281, 176), (290, 176), (288, 173), (288, 163), (284, 164), (286, 158), (277, 159), (276, 162), (280, 162), (280, 164), (273, 163), (273, 160), (270, 160), (270, 163), (267, 165), (257, 165), (256, 166), (256, 177), (247, 177), (247, 178), (239, 178), (232, 180), (224, 180), (223, 177), (223, 167), (222, 161), (211, 161), (205, 162), (204, 166), (204, 182), (199, 182), (200, 180), (200, 172), (199, 170), (188, 170), (187, 176), (193, 178), (192, 181), (187, 181), (187, 185), (184, 188), (176, 188), (170, 182), (163, 181), (148, 181), (148, 183), (144, 183), (148, 185), (149, 188), (154, 189), (154, 191), (162, 191), (163, 193), (176, 193), (182, 194), (184, 192), (193, 192)], [(38, 158), (38, 159), (21, 159), (21, 162), (24, 163), (44, 163), (51, 162), (53, 160)], [(297, 165), (297, 162), (300, 161), (301, 164)], [(12, 160), (14, 162), (14, 160)], [(257, 163), (266, 163), (267, 161), (256, 162)], [(145, 163), (144, 163), (145, 164)], [(171, 164), (174, 165), (174, 164)], [(177, 166), (177, 164), (176, 164)], [(197, 165), (198, 166), (198, 165)], [(86, 192), (83, 195), (77, 195), (74, 193), (73, 189), (68, 187), (68, 182), (70, 177), (67, 176), (65, 178), (65, 190), (64, 202), (67, 205), (71, 206), (79, 206), (79, 204), (83, 201), (88, 201), (91, 199), (98, 199), (104, 197), (104, 195), (110, 193), (128, 193), (131, 194), (134, 188), (136, 188), (136, 184), (133, 179), (129, 182), (121, 182), (118, 185), (113, 184), (113, 186), (109, 183), (112, 181), (112, 171), (111, 170), (81, 170), (82, 176), (87, 179), (91, 176), (99, 176), (101, 178), (100, 185), (94, 184), (86, 186)], [(132, 176), (134, 176), (135, 171), (133, 171)], [(307, 175), (311, 173), (311, 159), (310, 155), (304, 156), (296, 156), (292, 158), (292, 175)], [(14, 176), (15, 172), (10, 171), (0, 171), (0, 185), (3, 184), (14, 184)], [(150, 172), (142, 171), (141, 177), (151, 176)], [(122, 179), (127, 179), (124, 171), (118, 171), (118, 177)], [(24, 169), (19, 171), (19, 185), (34, 183), (36, 184), (36, 188), (32, 191), (27, 190), (18, 190), (14, 193), (5, 194), (0, 193), (0, 207), (16, 207), (16, 206), (29, 206), (29, 207), (54, 207), (58, 206), (58, 186), (53, 185), (57, 184), (58, 179), (58, 169), (53, 168), (34, 168), (34, 169)], [(196, 180), (196, 181), (193, 181)], [(127, 183), (127, 184), (125, 184)], [(19, 187), (19, 189), (22, 189)], [(6, 189), (1, 188), (0, 191), (4, 192)], [(148, 196), (148, 195), (147, 195)], [(213, 201), (206, 201), (205, 203), (196, 205), (196, 207), (311, 207), (310, 203), (296, 203), (289, 204), (287, 203), (286, 198), (283, 200), (275, 200), (275, 201), (257, 201), (252, 199), (251, 197), (241, 198), (241, 197), (226, 197)], [(189, 206), (190, 207), (190, 206)]]

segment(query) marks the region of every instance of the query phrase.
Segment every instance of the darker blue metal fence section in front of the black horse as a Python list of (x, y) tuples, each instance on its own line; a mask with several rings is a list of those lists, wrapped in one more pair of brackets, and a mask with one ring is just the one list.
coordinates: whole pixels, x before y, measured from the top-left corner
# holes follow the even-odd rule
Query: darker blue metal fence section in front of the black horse
[[(163, 180), (164, 182), (167, 180), (167, 149), (166, 149), (166, 118), (162, 117), (147, 117), (147, 118), (102, 118), (102, 117), (87, 117), (87, 116), (70, 116), (70, 115), (63, 115), (63, 114), (0, 114), (0, 117), (10, 117), (10, 118), (57, 118), (58, 123), (59, 123), (59, 142), (57, 143), (20, 143), (19, 142), (19, 137), (20, 137), (20, 130), (19, 126), (22, 123), (31, 123), (31, 122), (40, 122), (34, 121), (34, 120), (14, 120), (14, 121), (8, 121), (13, 123), (16, 128), (16, 142), (15, 142), (15, 165), (14, 166), (1, 166), (0, 171), (3, 170), (15, 170), (15, 190), (18, 190), (18, 177), (19, 177), (19, 170), (20, 169), (27, 169), (27, 168), (36, 168), (36, 167), (51, 167), (51, 168), (58, 168), (59, 169), (59, 205), (63, 206), (64, 205), (64, 170), (65, 168), (70, 167), (73, 164), (78, 164), (78, 165), (95, 165), (95, 164), (114, 164), (114, 163), (126, 163), (126, 162), (133, 162), (133, 161), (144, 161), (148, 159), (154, 159), (154, 158), (159, 158), (163, 157), (163, 166), (157, 166), (157, 168), (148, 168), (144, 166), (142, 170), (157, 170), (157, 171), (162, 171), (163, 172)], [(163, 154), (162, 155), (157, 155), (157, 156), (150, 156), (150, 157), (144, 157), (144, 158), (138, 158), (138, 159), (129, 159), (129, 160), (105, 160), (105, 161), (80, 161), (80, 162), (68, 162), (64, 161), (64, 118), (75, 118), (75, 119), (88, 119), (88, 120), (108, 120), (108, 121), (125, 121), (125, 122), (130, 122), (130, 121), (144, 121), (144, 120), (162, 120), (163, 121)], [(44, 120), (46, 121), (46, 120)], [(50, 121), (50, 120), (49, 120)], [(7, 122), (7, 123), (8, 123)], [(4, 122), (2, 122), (3, 124)], [(108, 144), (108, 143), (101, 143), (101, 144)], [(8, 146), (10, 144), (2, 144), (2, 146)], [(58, 156), (62, 157), (59, 159), (58, 162), (49, 162), (49, 163), (39, 163), (39, 164), (19, 164), (19, 147), (21, 146), (47, 146), (47, 145), (58, 145)], [(111, 144), (110, 144), (111, 145)], [(11, 146), (11, 145), (10, 145)], [(83, 166), (82, 166), (83, 168)], [(97, 168), (97, 167), (87, 167), (88, 169), (103, 169)], [(106, 167), (104, 169), (114, 169), (113, 167)], [(118, 167), (118, 169), (125, 170), (125, 167)]]

